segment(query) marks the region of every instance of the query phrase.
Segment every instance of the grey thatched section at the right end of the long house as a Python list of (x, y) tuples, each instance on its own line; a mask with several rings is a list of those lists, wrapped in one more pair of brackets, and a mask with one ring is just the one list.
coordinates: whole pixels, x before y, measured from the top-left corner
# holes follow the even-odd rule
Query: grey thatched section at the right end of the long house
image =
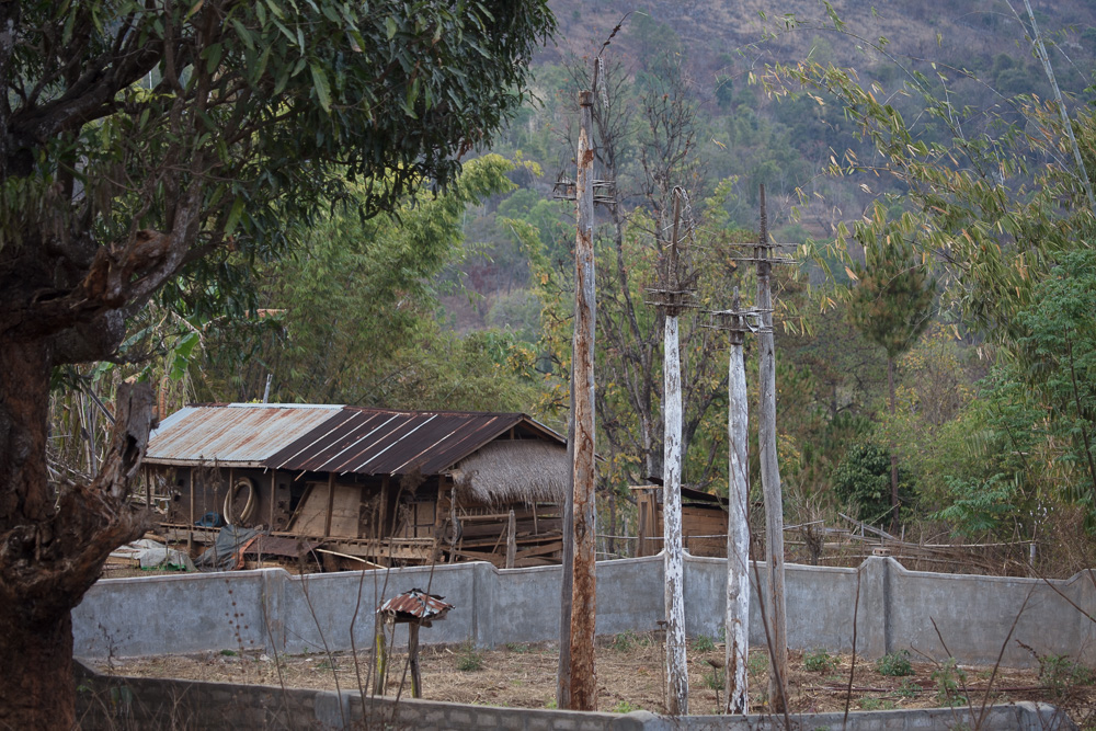
[(465, 500), (486, 505), (562, 503), (567, 448), (540, 439), (491, 442), (453, 469), (453, 481)]

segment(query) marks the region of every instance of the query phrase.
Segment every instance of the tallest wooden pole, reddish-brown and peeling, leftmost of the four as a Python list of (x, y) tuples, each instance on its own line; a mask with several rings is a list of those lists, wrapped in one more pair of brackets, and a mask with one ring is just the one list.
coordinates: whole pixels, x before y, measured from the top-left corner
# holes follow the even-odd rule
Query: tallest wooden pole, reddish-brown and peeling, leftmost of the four
[(573, 710), (597, 708), (594, 673), (594, 621), (597, 614), (596, 516), (594, 495), (594, 150), (591, 141), (593, 94), (580, 93), (578, 233), (574, 240), (574, 340), (571, 397), (574, 411), (574, 576), (571, 591), (571, 705)]

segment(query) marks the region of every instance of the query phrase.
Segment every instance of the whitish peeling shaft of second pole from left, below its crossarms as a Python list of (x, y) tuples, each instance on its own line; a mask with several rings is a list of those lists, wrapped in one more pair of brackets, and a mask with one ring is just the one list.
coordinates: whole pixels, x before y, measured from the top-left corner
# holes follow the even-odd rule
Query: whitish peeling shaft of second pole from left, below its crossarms
[(666, 609), (666, 711), (688, 713), (688, 669), (685, 665), (685, 582), (682, 548), (682, 377), (677, 317), (666, 316), (665, 367), (662, 411), (663, 439), (662, 522)]

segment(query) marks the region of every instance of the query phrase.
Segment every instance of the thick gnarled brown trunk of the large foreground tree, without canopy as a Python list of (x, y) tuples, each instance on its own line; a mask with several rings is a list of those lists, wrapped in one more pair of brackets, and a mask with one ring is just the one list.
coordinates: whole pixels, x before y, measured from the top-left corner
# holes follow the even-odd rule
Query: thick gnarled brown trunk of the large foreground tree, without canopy
[(110, 552), (144, 532), (126, 494), (148, 441), (151, 390), (118, 389), (110, 449), (90, 486), (54, 484), (50, 350), (46, 339), (0, 349), (0, 728), (73, 726), (71, 609)]

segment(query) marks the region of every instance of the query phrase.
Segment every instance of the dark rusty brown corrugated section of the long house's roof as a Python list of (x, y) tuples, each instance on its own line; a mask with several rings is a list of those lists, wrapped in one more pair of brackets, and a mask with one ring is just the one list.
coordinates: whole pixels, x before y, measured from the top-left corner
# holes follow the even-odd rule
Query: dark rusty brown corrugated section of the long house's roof
[(276, 469), (340, 475), (437, 475), (509, 430), (563, 438), (521, 413), (392, 411), (346, 407), (266, 460)]

